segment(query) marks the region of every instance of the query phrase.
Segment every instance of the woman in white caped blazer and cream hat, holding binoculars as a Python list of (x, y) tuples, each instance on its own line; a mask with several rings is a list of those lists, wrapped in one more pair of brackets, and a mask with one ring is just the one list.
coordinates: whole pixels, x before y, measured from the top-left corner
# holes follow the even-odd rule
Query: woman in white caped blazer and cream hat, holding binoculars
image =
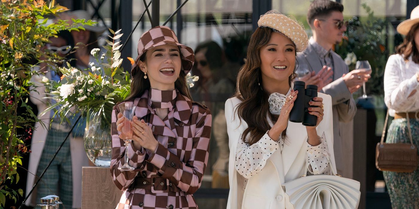
[(225, 103), (229, 209), (291, 208), (281, 184), (335, 169), (331, 97), (318, 93), (310, 102), (317, 106), (309, 109), (316, 126), (289, 121), (295, 99), (304, 96), (292, 90), (296, 53), (308, 44), (304, 27), (277, 11), (262, 15), (258, 25), (235, 97)]

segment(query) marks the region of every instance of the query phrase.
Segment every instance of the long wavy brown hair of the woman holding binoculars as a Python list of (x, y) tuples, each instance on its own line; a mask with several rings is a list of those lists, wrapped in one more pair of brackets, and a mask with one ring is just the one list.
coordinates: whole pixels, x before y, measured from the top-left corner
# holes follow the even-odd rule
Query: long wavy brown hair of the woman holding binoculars
[[(234, 96), (241, 99), (242, 102), (238, 104), (236, 111), (240, 121), (244, 120), (248, 125), (243, 132), (242, 140), (244, 141), (248, 136), (249, 140), (246, 142), (251, 145), (258, 142), (271, 128), (266, 118), (267, 114), (273, 122), (278, 120), (278, 116), (269, 111), (269, 94), (261, 88), (260, 49), (268, 44), (272, 32), (274, 31), (271, 28), (256, 28), (250, 38), (246, 63), (241, 67), (237, 77), (237, 88)], [(294, 72), (288, 79), (290, 85), (295, 77)], [(285, 136), (285, 131), (282, 132), (282, 136)]]

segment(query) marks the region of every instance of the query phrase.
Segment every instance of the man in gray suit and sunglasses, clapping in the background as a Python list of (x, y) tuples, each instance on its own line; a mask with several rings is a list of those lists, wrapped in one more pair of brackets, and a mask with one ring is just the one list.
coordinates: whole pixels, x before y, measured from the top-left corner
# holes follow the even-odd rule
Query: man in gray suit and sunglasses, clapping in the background
[[(362, 82), (367, 82), (370, 75), (361, 70), (349, 72), (342, 58), (331, 50), (334, 44), (341, 42), (347, 29), (342, 12), (343, 5), (335, 1), (314, 0), (310, 4), (307, 20), (313, 37), (308, 48), (297, 57), (297, 72), (308, 69), (310, 73), (299, 79), (306, 84), (315, 84), (319, 91), (331, 95), (336, 168), (338, 173), (351, 177), (351, 166), (345, 163), (344, 156), (351, 156), (352, 153), (347, 152), (352, 150), (344, 148), (344, 140), (352, 138), (342, 132), (352, 133), (352, 119), (357, 111), (352, 93), (361, 87)], [(349, 125), (350, 130), (341, 130), (340, 123)]]

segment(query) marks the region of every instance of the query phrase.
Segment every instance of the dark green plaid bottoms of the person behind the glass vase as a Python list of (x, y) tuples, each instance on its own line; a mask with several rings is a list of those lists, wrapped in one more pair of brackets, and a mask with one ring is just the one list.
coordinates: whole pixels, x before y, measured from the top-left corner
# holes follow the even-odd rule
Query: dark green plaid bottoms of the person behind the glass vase
[[(45, 140), (44, 150), (42, 150), (36, 176), (41, 176), (49, 161), (54, 157), (55, 152), (67, 136), (66, 132), (50, 129)], [(36, 203), (40, 204), (40, 199), (44, 196), (54, 194), (59, 196), (65, 209), (72, 208), (73, 201), (73, 181), (71, 171), (70, 139), (62, 146), (61, 150), (52, 161), (51, 166), (45, 172), (38, 186), (36, 186)], [(62, 208), (62, 206), (60, 206)], [(40, 207), (36, 207), (40, 209)]]

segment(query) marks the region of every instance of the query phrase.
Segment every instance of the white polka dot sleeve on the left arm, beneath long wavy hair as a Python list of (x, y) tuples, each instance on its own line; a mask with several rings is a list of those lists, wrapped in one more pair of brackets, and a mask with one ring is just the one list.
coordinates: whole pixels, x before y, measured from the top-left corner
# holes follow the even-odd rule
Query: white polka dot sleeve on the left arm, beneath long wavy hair
[(235, 159), (236, 171), (243, 177), (250, 178), (264, 168), (268, 158), (278, 149), (279, 143), (272, 140), (267, 132), (253, 145), (243, 139), (239, 140)]

